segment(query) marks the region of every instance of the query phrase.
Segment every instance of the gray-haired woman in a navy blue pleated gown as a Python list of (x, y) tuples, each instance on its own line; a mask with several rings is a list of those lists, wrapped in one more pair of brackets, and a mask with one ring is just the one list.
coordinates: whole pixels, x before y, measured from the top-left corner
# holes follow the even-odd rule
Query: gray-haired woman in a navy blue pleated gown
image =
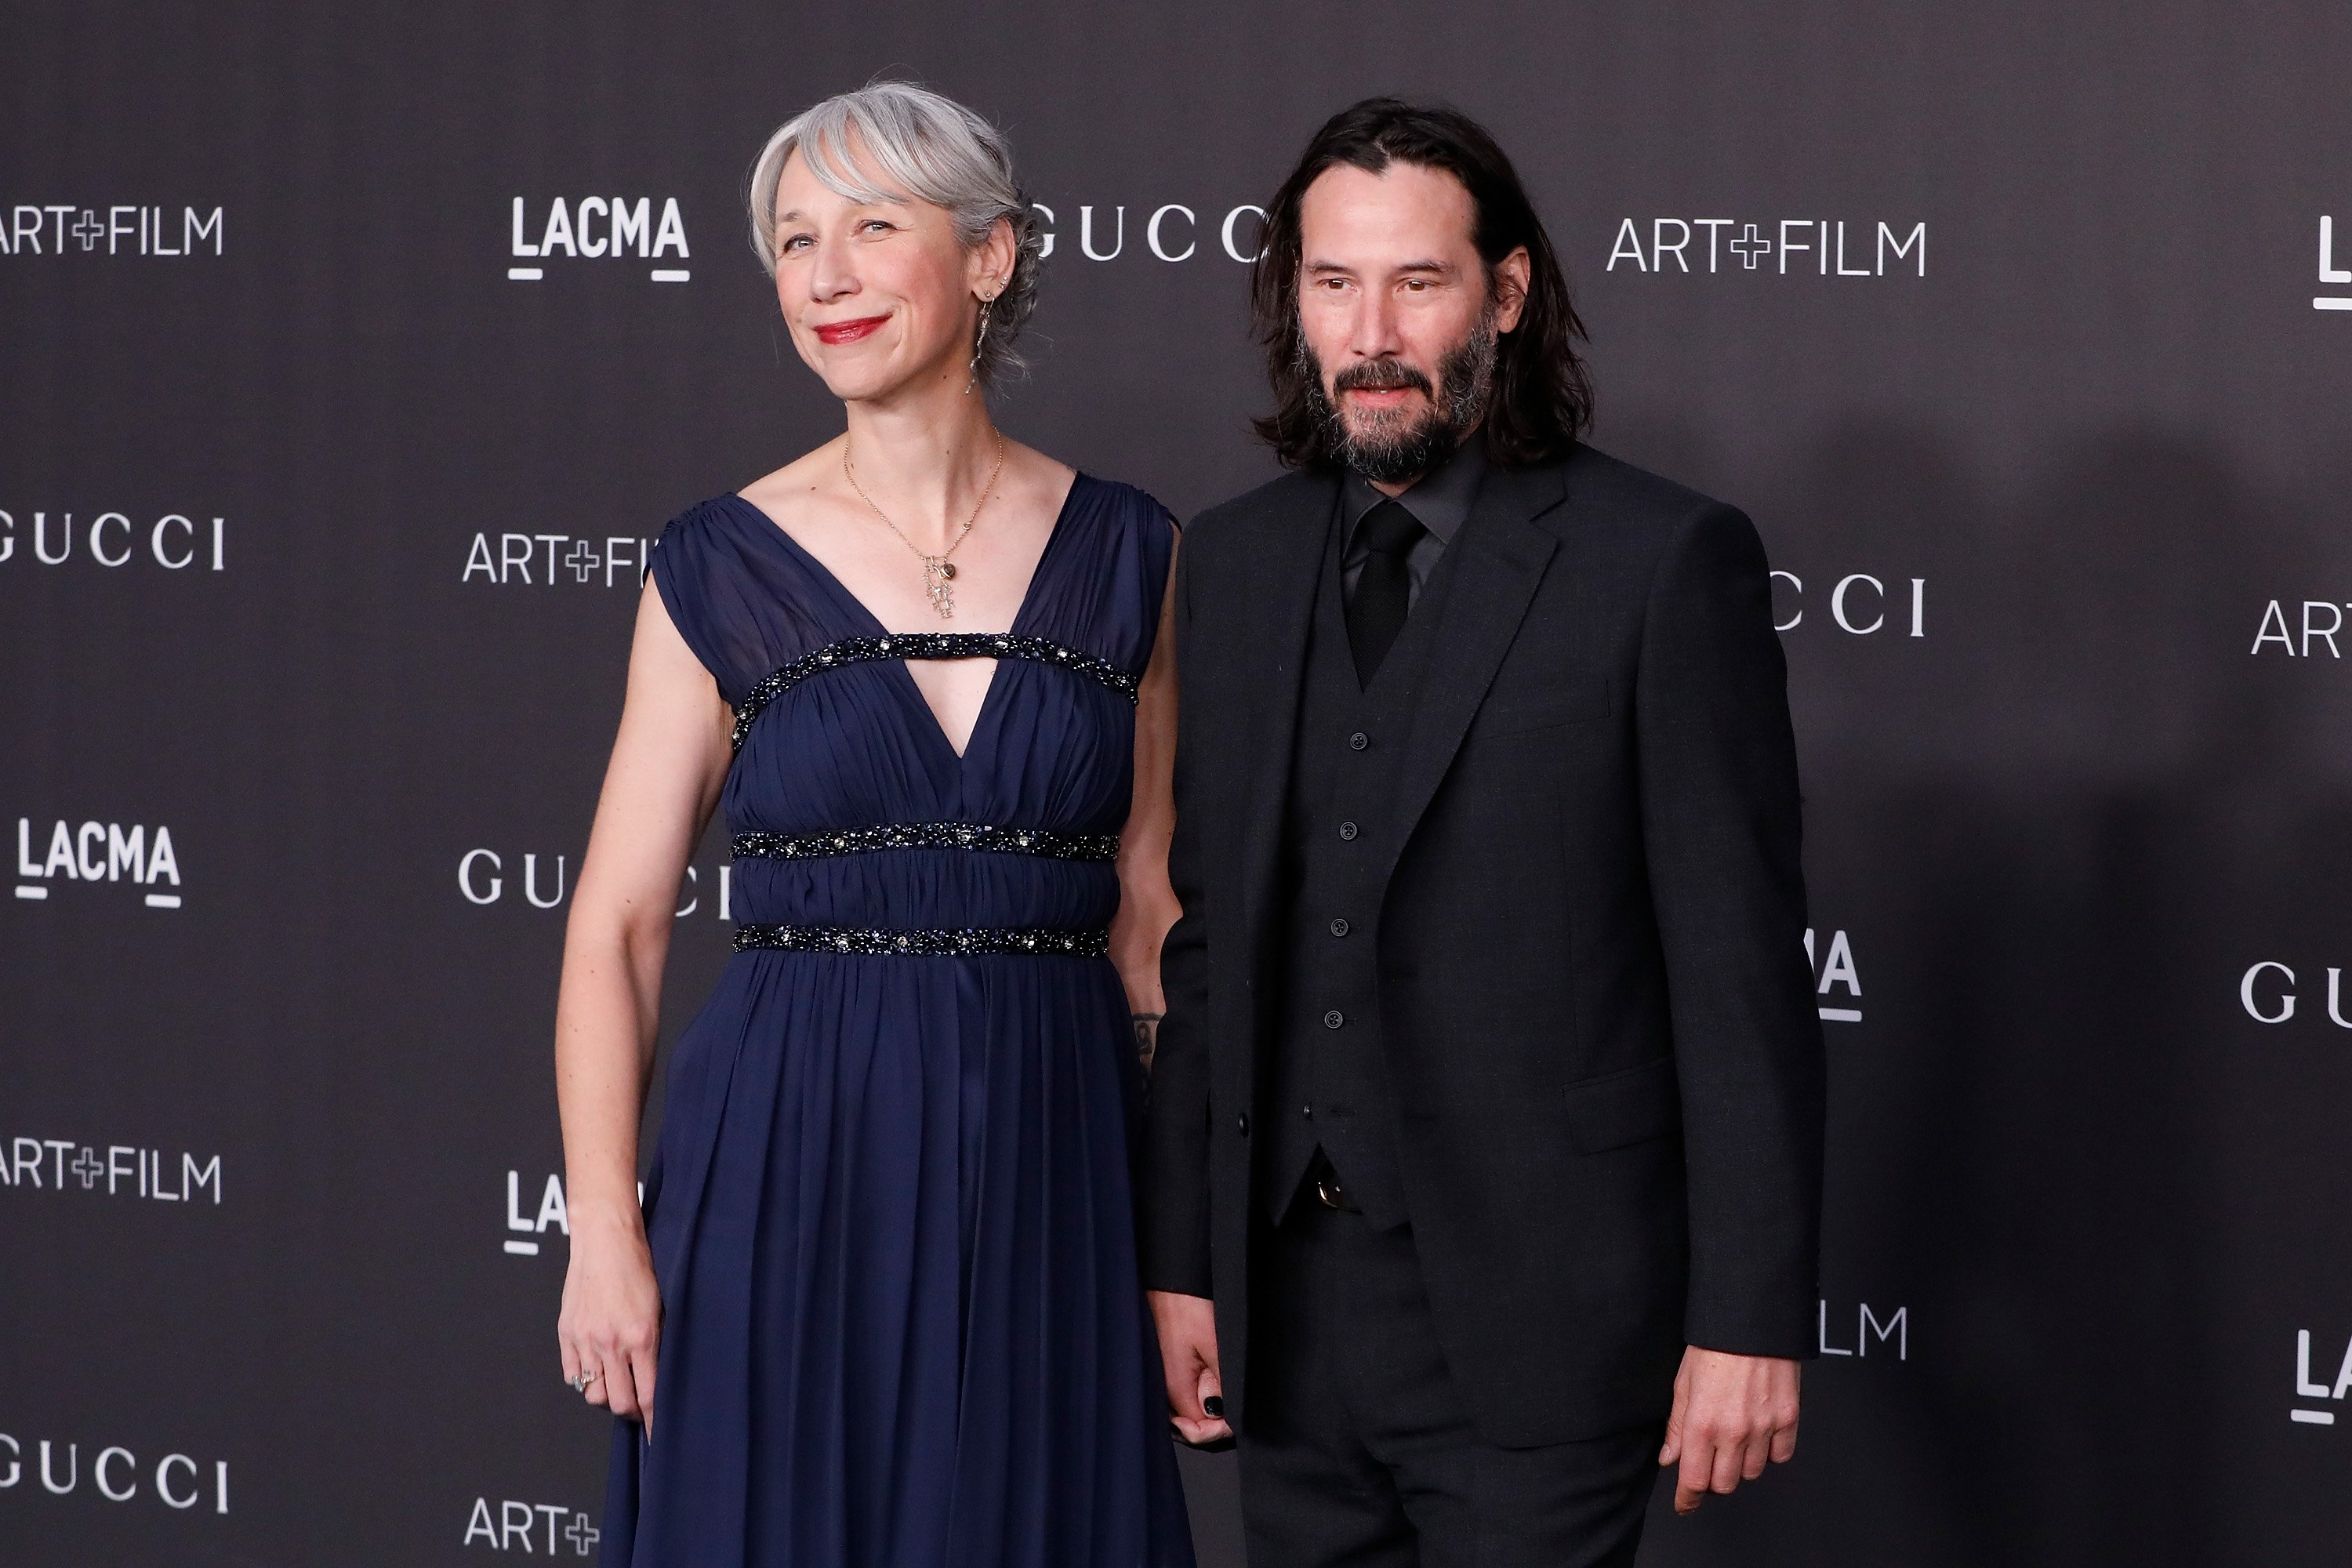
[[(572, 900), (557, 1338), (621, 1418), (604, 1563), (1183, 1566), (1127, 1187), (1176, 914), (1176, 527), (988, 416), (1040, 247), (985, 120), (828, 99), (750, 216), (844, 430), (663, 531)], [(640, 1201), (720, 804), (736, 957)]]

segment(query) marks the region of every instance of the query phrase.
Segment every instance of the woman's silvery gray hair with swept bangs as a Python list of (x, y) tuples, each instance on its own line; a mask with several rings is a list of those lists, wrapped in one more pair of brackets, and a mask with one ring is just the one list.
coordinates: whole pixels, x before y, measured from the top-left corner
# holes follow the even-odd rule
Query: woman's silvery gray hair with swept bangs
[[(866, 150), (873, 183), (851, 153)], [(750, 167), (750, 247), (760, 266), (776, 275), (776, 181), (800, 153), (826, 190), (854, 202), (915, 197), (943, 207), (964, 247), (976, 247), (1000, 221), (1014, 230), (1014, 275), (988, 306), (988, 343), (981, 346), (981, 381), (1002, 383), (1023, 369), (1014, 348), (1037, 308), (1042, 242), (1028, 195), (1014, 181), (1014, 153), (1004, 132), (955, 99), (913, 82), (873, 82), (804, 108), (760, 148)]]

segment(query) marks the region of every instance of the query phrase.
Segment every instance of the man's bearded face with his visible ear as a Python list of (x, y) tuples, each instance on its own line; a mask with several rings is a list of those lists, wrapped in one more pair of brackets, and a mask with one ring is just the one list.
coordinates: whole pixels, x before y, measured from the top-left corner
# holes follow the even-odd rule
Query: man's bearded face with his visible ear
[(1496, 336), (1519, 324), (1526, 252), (1486, 266), (1470, 193), (1442, 169), (1324, 169), (1298, 207), (1298, 331), (1343, 463), (1409, 484), (1486, 411)]

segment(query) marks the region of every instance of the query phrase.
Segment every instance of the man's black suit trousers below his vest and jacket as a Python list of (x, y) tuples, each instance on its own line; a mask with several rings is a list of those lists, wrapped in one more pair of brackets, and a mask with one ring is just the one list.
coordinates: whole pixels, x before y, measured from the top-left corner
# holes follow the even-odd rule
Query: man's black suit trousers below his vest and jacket
[(1242, 1526), (1254, 1568), (1625, 1568), (1665, 1422), (1482, 1443), (1454, 1387), (1411, 1227), (1312, 1185), (1251, 1262)]

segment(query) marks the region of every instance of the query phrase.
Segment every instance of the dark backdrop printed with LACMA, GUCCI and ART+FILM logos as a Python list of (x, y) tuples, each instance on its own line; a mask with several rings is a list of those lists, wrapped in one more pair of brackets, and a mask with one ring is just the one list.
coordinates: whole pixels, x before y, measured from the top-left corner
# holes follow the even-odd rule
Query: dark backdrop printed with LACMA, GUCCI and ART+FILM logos
[[(746, 169), (877, 73), (1014, 134), (1021, 440), (1268, 477), (1258, 205), (1402, 92), (1526, 174), (1597, 444), (1762, 527), (1820, 1361), (1644, 1561), (2340, 1561), (2352, 14), (2187, 0), (9, 7), (0, 1561), (595, 1559), (564, 907), (652, 538), (840, 421)], [(666, 1039), (727, 940), (713, 837)]]

